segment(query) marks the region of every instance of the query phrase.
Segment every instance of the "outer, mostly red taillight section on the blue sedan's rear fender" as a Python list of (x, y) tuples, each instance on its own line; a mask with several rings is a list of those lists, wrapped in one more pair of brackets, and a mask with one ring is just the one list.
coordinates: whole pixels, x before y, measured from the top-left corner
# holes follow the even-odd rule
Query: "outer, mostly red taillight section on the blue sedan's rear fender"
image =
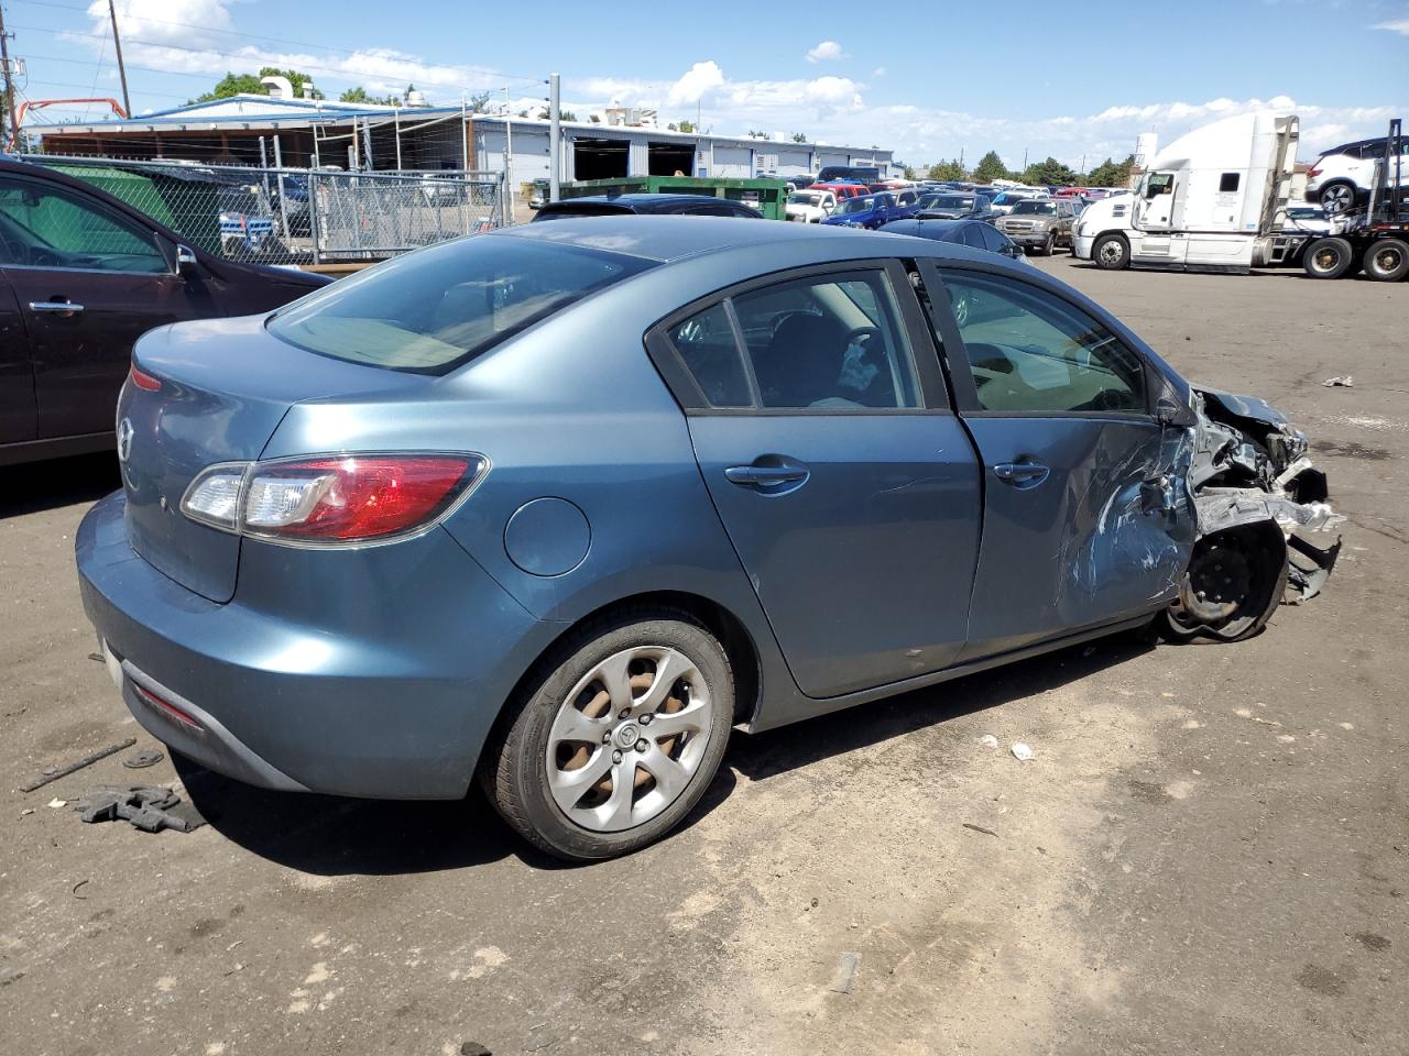
[(442, 514), (473, 482), (465, 455), (373, 455), (275, 462), (249, 477), (247, 535), (354, 542), (404, 535)]

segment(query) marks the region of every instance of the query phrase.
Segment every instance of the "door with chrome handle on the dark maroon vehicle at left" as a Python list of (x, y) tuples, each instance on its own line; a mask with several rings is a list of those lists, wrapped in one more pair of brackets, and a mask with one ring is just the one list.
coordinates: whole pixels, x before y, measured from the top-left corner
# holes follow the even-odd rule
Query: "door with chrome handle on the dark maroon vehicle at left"
[(30, 338), (41, 439), (110, 432), (132, 342), (192, 314), (151, 231), (56, 182), (0, 175), (0, 269)]

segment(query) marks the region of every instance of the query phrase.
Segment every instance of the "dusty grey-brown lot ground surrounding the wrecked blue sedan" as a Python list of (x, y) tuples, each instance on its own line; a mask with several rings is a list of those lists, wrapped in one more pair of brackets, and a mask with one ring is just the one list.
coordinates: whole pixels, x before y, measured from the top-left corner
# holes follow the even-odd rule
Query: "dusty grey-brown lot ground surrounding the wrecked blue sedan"
[[(17, 791), (154, 742), (87, 659), (73, 574), (110, 460), (0, 472), (0, 1048), (1409, 1052), (1409, 284), (1038, 266), (1309, 432), (1348, 518), (1326, 594), (1243, 645), (1106, 639), (737, 736), (688, 828), (606, 865), (530, 853), (478, 794), (121, 755)], [(211, 824), (48, 805), (134, 776)]]

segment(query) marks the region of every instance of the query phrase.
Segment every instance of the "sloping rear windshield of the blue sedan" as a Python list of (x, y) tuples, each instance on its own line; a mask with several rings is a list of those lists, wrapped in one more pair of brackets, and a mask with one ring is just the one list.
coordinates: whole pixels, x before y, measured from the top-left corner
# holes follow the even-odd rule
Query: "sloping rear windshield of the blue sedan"
[(268, 327), (318, 355), (440, 375), (652, 265), (561, 242), (469, 237), (333, 283)]

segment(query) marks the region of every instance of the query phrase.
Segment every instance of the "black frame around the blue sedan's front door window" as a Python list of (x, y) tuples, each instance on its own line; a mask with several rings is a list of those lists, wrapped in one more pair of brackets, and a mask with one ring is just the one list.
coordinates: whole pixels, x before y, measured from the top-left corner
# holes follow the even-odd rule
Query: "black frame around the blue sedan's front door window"
[[(926, 290), (930, 294), (930, 304), (934, 306), (934, 328), (943, 342), (945, 349), (945, 377), (950, 384), (950, 391), (954, 394), (954, 406), (958, 413), (965, 418), (1093, 418), (1100, 421), (1136, 421), (1136, 422), (1157, 422), (1158, 418), (1154, 413), (1154, 404), (1157, 398), (1157, 391), (1162, 391), (1165, 382), (1162, 375), (1154, 369), (1148, 358), (1127, 338), (1123, 328), (1119, 325), (1112, 325), (1113, 320), (1100, 313), (1093, 313), (1085, 304), (1079, 304), (1071, 297), (1065, 296), (1058, 290), (1050, 290), (1045, 286), (1037, 283), (1030, 283), (1022, 276), (1012, 275), (1006, 269), (999, 268), (985, 268), (982, 265), (974, 265), (969, 262), (958, 260), (938, 260), (936, 258), (927, 258), (919, 260), (920, 279), (924, 283)], [(1146, 410), (1141, 411), (1057, 411), (1057, 410), (1000, 410), (991, 411), (983, 407), (978, 400), (978, 387), (974, 384), (974, 372), (968, 355), (968, 346), (964, 344), (964, 337), (960, 332), (957, 320), (954, 318), (952, 301), (950, 298), (948, 286), (944, 283), (945, 275), (952, 275), (958, 280), (965, 273), (979, 275), (989, 280), (1012, 282), (1017, 286), (1026, 287), (1027, 290), (1036, 290), (1038, 294), (1045, 294), (1054, 300), (1062, 301), (1072, 311), (1079, 311), (1084, 315), (1089, 315), (1093, 321), (1099, 322), (1112, 337), (1115, 337), (1136, 362), (1140, 363), (1140, 376), (1144, 383), (1144, 401)]]

